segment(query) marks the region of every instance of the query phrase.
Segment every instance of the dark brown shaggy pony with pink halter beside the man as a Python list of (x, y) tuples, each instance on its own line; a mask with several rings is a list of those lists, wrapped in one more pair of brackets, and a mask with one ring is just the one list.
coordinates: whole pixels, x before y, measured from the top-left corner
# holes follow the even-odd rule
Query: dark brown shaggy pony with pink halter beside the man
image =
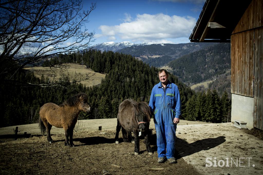
[(124, 100), (119, 106), (115, 143), (119, 143), (120, 128), (122, 128), (124, 142), (131, 141), (131, 132), (133, 132), (135, 141), (134, 154), (138, 155), (139, 131), (141, 131), (145, 136), (144, 143), (146, 145), (146, 151), (148, 151), (149, 155), (152, 155), (153, 153), (148, 138), (151, 115), (150, 107), (146, 102), (137, 103), (132, 99)]

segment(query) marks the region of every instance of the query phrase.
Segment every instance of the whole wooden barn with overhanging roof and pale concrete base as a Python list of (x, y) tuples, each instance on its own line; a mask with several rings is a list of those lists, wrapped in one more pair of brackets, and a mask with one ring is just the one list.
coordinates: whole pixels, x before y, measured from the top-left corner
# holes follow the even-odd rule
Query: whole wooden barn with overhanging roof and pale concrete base
[(263, 0), (207, 0), (191, 42), (231, 42), (231, 121), (263, 130)]

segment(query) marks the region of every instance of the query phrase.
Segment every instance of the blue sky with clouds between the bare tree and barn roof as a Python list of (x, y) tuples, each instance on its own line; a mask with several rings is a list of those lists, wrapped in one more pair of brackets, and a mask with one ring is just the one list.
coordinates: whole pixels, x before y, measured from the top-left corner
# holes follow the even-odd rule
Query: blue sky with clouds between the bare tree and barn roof
[[(91, 2), (83, 1), (89, 9)], [(104, 42), (189, 43), (205, 0), (98, 0), (86, 28)]]

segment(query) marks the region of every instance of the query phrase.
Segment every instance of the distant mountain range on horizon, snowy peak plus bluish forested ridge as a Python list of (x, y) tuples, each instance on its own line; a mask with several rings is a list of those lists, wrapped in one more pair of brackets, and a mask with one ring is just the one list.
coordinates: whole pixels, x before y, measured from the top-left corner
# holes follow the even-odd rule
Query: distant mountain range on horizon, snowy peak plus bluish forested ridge
[(161, 67), (168, 64), (169, 61), (180, 58), (183, 55), (204, 49), (217, 43), (180, 43), (180, 44), (132, 44), (131, 42), (106, 42), (96, 44), (93, 49), (101, 52), (111, 50), (134, 56), (150, 66)]

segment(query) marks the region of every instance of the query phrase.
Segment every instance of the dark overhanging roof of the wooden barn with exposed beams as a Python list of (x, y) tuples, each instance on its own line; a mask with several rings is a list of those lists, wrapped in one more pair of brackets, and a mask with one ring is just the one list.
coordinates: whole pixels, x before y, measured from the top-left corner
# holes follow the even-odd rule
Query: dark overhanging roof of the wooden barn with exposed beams
[(230, 42), (231, 33), (251, 0), (206, 0), (189, 39), (191, 42)]

